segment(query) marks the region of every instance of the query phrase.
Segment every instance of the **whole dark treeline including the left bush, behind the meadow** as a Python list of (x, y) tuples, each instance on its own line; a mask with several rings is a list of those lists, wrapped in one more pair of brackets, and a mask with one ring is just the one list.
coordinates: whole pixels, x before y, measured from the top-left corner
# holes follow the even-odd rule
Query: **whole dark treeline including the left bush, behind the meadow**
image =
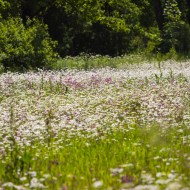
[(190, 55), (190, 0), (0, 0), (2, 67), (59, 55), (136, 51)]

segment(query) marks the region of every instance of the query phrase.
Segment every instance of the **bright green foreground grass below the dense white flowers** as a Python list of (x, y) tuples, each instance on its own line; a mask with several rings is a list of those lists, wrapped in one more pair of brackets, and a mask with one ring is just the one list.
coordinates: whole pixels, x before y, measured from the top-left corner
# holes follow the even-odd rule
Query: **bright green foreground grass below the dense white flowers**
[(96, 138), (62, 132), (57, 139), (47, 139), (46, 146), (33, 142), (20, 150), (13, 144), (8, 158), (0, 162), (0, 179), (31, 186), (35, 178), (36, 189), (40, 184), (48, 189), (96, 189), (97, 181), (102, 182), (99, 189), (120, 189), (158, 183), (161, 173), (163, 189), (175, 180), (189, 186), (190, 147), (189, 140), (183, 140), (189, 135), (187, 126), (164, 130), (135, 124), (106, 134), (102, 130)]

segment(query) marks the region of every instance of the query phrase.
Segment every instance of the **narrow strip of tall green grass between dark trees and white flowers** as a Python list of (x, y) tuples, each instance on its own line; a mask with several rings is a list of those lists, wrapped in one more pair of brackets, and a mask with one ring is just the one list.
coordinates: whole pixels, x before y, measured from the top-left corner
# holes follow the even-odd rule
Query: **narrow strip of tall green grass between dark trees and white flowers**
[(188, 57), (177, 55), (175, 52), (168, 54), (150, 54), (137, 52), (129, 55), (110, 57), (102, 55), (81, 54), (75, 57), (60, 58), (52, 65), (54, 70), (65, 69), (97, 69), (97, 68), (126, 68), (130, 65), (142, 65), (143, 63), (159, 64), (165, 61), (185, 61)]

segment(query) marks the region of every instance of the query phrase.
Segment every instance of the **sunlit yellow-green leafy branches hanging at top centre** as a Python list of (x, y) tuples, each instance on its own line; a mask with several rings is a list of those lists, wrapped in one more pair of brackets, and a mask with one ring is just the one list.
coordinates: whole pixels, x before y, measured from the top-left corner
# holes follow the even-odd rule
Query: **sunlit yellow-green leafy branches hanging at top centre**
[[(99, 22), (116, 31), (130, 31), (131, 18), (134, 21), (139, 14), (139, 7), (131, 0), (71, 0), (69, 2), (57, 0), (56, 5), (64, 9), (68, 15), (77, 15), (79, 21), (86, 22), (88, 25)], [(130, 25), (127, 24), (126, 18)]]

